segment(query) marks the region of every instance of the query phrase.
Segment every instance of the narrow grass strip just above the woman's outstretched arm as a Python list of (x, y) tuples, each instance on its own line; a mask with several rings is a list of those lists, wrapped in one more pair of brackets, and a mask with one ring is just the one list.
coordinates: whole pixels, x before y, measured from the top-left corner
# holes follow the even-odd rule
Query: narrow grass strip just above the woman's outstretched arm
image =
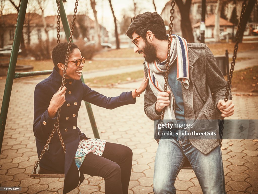
[(112, 87), (121, 83), (135, 81), (136, 79), (143, 78), (143, 76), (143, 71), (139, 70), (110, 76), (96, 77), (93, 79), (84, 79), (84, 81), (88, 86)]

